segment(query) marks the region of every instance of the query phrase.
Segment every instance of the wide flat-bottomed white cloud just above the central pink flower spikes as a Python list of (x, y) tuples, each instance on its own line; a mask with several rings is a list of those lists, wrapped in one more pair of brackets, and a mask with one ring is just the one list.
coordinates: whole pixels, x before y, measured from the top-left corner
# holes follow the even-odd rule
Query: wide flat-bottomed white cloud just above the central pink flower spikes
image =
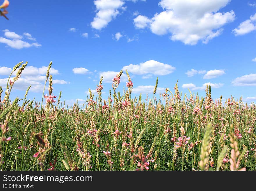
[(160, 63), (157, 62), (155, 60), (149, 60), (147, 62), (144, 63), (140, 63), (140, 64), (130, 64), (128, 66), (124, 66), (122, 68), (122, 70), (126, 70), (128, 72), (131, 72), (133, 74), (139, 74), (139, 75), (143, 75), (143, 74), (154, 74), (154, 75), (167, 75), (167, 74), (171, 74), (173, 73), (173, 71), (175, 70), (175, 67), (168, 65), (168, 64), (164, 64), (164, 63)]

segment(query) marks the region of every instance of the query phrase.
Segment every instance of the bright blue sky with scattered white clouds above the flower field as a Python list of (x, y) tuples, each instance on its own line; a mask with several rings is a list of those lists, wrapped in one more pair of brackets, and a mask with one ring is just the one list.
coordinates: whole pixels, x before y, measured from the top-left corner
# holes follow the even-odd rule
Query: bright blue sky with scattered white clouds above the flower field
[[(256, 101), (254, 0), (9, 1), (9, 20), (0, 18), (0, 85), (15, 64), (28, 61), (12, 99), (32, 84), (28, 97), (40, 100), (52, 61), (53, 94), (62, 91), (67, 103), (84, 103), (101, 75), (107, 99), (121, 69), (134, 96), (151, 97), (159, 77), (158, 94), (179, 80), (183, 95), (189, 88), (205, 96), (211, 84), (213, 99)], [(118, 90), (126, 80), (124, 71)]]

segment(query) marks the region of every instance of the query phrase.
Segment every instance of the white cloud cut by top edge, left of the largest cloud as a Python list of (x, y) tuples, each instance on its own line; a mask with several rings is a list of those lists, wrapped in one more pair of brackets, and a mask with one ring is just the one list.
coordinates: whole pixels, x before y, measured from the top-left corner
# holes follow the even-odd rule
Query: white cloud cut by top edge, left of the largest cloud
[(96, 16), (91, 22), (91, 27), (101, 30), (119, 14), (119, 9), (125, 4), (122, 0), (97, 0), (93, 1), (96, 6)]

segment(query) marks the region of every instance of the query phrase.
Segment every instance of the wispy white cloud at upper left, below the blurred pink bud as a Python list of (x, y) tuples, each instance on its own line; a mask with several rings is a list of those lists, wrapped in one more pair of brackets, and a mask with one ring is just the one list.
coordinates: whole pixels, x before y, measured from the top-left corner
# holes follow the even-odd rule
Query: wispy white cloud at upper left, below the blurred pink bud
[[(23, 38), (22, 35), (18, 35), (15, 32), (10, 32), (8, 29), (3, 30), (4, 37), (0, 37), (0, 42), (6, 44), (7, 46), (14, 48), (14, 49), (22, 49), (22, 48), (29, 48), (29, 47), (41, 47), (42, 45), (38, 42), (29, 43), (26, 41), (21, 40)], [(31, 35), (29, 33), (23, 33), (26, 37)], [(34, 40), (35, 38), (28, 37), (29, 40)]]

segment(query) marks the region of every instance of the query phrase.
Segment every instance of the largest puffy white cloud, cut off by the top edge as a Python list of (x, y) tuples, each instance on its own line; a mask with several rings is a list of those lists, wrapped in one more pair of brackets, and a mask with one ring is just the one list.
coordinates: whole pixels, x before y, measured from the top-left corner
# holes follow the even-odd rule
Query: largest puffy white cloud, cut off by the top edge
[[(152, 19), (139, 15), (134, 19), (136, 28), (149, 27), (157, 35), (171, 34), (170, 39), (194, 45), (199, 40), (207, 43), (221, 34), (225, 24), (233, 22), (234, 11), (217, 12), (231, 0), (161, 0), (164, 9)], [(151, 21), (151, 22), (150, 22)]]

